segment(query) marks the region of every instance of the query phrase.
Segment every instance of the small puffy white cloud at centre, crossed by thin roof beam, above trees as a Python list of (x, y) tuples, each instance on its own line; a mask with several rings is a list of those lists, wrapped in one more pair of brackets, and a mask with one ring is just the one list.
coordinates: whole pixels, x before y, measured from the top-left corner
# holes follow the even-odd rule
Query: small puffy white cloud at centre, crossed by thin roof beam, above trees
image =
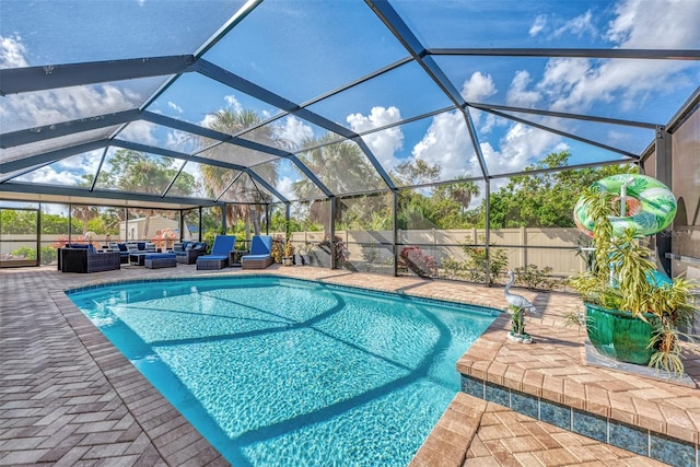
[[(396, 107), (372, 107), (368, 116), (351, 114), (347, 118), (350, 128), (359, 133), (394, 124), (400, 119), (401, 113)], [(399, 127), (365, 135), (362, 140), (385, 170), (389, 171), (398, 164), (395, 154), (404, 148), (404, 132)]]

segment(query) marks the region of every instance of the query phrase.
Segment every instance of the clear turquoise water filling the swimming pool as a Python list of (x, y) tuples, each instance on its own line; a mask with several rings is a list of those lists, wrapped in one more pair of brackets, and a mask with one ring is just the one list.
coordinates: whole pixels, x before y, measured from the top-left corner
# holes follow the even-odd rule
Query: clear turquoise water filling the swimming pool
[(69, 297), (234, 466), (405, 466), (498, 312), (276, 277)]

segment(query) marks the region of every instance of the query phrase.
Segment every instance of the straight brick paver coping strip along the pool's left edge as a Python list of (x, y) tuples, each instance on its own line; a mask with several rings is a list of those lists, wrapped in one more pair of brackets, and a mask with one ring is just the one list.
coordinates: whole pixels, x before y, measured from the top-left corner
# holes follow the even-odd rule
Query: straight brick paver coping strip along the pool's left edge
[(48, 292), (121, 402), (167, 465), (230, 466), (61, 290)]

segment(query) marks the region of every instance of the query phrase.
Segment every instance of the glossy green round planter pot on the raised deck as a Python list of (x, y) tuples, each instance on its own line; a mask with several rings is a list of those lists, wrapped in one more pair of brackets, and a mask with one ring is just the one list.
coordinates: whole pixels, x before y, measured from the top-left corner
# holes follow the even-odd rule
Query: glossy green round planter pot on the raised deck
[[(585, 306), (588, 339), (598, 353), (620, 362), (649, 364), (653, 353), (649, 347), (653, 334), (649, 323), (633, 318), (629, 312), (591, 303)], [(649, 316), (653, 319), (653, 315)]]

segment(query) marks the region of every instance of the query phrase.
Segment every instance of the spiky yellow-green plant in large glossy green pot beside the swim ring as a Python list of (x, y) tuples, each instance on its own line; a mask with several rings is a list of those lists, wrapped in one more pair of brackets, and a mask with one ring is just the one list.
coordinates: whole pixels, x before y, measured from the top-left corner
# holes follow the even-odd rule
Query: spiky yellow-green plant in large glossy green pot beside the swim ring
[(593, 220), (594, 258), (570, 284), (583, 297), (591, 343), (606, 357), (682, 375), (680, 353), (692, 346), (682, 330), (697, 310), (690, 282), (660, 279), (635, 229), (614, 235), (615, 194), (593, 185), (582, 201)]

